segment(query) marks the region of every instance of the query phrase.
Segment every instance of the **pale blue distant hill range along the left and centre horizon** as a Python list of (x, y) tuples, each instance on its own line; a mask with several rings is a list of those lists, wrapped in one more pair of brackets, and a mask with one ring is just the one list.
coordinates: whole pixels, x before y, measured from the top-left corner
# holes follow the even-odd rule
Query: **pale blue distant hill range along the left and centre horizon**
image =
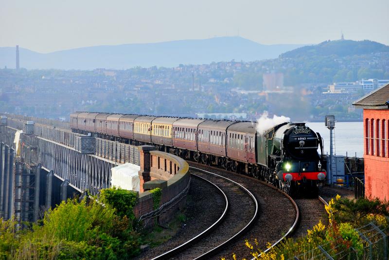
[[(218, 61), (277, 58), (303, 45), (263, 45), (242, 37), (215, 37), (145, 44), (105, 45), (38, 53), (19, 48), (20, 67), (26, 69), (128, 69), (176, 67)], [(15, 48), (0, 48), (0, 67), (15, 68)]]

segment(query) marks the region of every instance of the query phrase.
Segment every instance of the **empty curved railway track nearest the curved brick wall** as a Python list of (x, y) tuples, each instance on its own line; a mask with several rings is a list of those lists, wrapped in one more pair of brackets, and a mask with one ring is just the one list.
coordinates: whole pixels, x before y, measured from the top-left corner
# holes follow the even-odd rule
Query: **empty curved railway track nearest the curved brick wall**
[(191, 172), (197, 177), (212, 182), (225, 194), (226, 209), (208, 229), (154, 259), (210, 259), (216, 252), (247, 231), (257, 218), (258, 202), (245, 187), (229, 178), (203, 169), (191, 167)]

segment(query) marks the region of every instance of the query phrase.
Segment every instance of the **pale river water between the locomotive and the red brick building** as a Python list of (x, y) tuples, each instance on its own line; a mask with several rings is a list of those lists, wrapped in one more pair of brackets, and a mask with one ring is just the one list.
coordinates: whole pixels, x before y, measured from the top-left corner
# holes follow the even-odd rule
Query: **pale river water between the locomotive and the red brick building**
[[(330, 153), (330, 130), (324, 122), (307, 122), (315, 132), (319, 132), (324, 140), (324, 154)], [(363, 157), (363, 122), (335, 123), (335, 152), (336, 155)]]

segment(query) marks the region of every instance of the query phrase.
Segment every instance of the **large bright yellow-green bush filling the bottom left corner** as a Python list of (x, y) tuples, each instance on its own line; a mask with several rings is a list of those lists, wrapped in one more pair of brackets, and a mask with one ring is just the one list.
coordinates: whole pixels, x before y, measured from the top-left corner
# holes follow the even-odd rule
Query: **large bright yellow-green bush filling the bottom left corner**
[(42, 223), (16, 231), (13, 220), (0, 220), (0, 259), (128, 259), (140, 251), (129, 219), (97, 202), (62, 202)]

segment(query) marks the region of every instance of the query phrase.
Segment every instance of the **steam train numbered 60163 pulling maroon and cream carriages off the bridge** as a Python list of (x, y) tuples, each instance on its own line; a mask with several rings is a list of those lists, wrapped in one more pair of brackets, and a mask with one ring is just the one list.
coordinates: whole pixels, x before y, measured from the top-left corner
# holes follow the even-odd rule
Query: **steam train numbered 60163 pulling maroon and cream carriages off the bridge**
[(70, 115), (72, 132), (154, 145), (187, 160), (252, 175), (290, 195), (316, 196), (327, 175), (320, 134), (303, 122), (283, 122), (265, 131), (258, 124), (97, 112)]

